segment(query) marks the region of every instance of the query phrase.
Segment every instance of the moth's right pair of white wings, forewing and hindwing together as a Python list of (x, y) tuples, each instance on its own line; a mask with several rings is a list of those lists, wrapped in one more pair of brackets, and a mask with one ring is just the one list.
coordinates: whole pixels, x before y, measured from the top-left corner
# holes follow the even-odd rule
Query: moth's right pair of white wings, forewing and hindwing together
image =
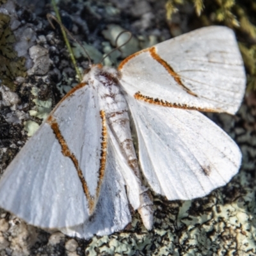
[(236, 113), (245, 74), (233, 31), (192, 31), (137, 52), (119, 70), (152, 189), (186, 200), (227, 184), (239, 170), (239, 148), (204, 115), (186, 109)]

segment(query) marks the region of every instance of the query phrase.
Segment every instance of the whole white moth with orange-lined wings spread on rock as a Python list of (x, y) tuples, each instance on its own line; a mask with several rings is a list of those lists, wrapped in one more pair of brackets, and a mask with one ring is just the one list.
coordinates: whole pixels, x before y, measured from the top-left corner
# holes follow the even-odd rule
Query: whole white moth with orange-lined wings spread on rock
[(189, 200), (238, 172), (236, 143), (198, 111), (236, 113), (244, 86), (234, 33), (218, 26), (137, 52), (118, 70), (92, 65), (4, 172), (0, 206), (88, 239), (122, 230), (131, 205), (150, 229), (148, 188)]

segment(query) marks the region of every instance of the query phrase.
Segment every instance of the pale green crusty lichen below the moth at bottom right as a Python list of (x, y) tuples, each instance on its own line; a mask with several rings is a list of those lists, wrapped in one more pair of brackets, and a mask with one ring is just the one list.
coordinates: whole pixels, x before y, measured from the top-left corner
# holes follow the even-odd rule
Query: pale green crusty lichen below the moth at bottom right
[(155, 207), (154, 230), (140, 226), (136, 215), (134, 233), (93, 237), (86, 255), (255, 255), (256, 186), (248, 188), (244, 172), (236, 179), (246, 188), (236, 200), (225, 202), (227, 198), (217, 189), (198, 200), (170, 202), (167, 214)]

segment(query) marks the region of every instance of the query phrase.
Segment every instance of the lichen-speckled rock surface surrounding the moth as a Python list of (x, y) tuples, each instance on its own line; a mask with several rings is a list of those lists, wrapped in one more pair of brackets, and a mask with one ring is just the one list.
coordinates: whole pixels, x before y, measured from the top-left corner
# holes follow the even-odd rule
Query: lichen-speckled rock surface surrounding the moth
[[(63, 23), (80, 42), (90, 45), (90, 54), (97, 60), (113, 49), (115, 38), (109, 28), (132, 32), (131, 54), (131, 49), (136, 52), (202, 26), (191, 4), (180, 6), (170, 23), (165, 20), (164, 0), (72, 2), (60, 4)], [(51, 6), (31, 5), (31, 1), (15, 4), (2, 4), (0, 13), (10, 17), (8, 26), (17, 40), (13, 49), (25, 60), (18, 68), (26, 67), (29, 72), (13, 79), (15, 94), (9, 94), (14, 100), (0, 108), (1, 173), (52, 107), (78, 83), (60, 31), (54, 31), (45, 17), (52, 12)], [(79, 52), (76, 57), (83, 70), (88, 61)], [(116, 52), (104, 62), (116, 64), (121, 55)], [(7, 102), (6, 90), (1, 95), (1, 102)], [(191, 201), (170, 202), (155, 195), (152, 230), (143, 227), (136, 213), (122, 232), (89, 241), (29, 226), (1, 210), (0, 255), (255, 255), (255, 99), (252, 92), (246, 95), (236, 116), (208, 114), (243, 152), (241, 171), (227, 186)]]

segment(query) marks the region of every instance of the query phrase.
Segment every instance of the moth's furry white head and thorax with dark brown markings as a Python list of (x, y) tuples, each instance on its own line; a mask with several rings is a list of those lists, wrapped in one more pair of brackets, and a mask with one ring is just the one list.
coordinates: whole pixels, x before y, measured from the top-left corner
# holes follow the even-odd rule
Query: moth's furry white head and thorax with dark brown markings
[(127, 109), (127, 103), (120, 88), (120, 74), (115, 68), (93, 65), (83, 77), (83, 83), (92, 86), (99, 94), (100, 108), (106, 114)]

